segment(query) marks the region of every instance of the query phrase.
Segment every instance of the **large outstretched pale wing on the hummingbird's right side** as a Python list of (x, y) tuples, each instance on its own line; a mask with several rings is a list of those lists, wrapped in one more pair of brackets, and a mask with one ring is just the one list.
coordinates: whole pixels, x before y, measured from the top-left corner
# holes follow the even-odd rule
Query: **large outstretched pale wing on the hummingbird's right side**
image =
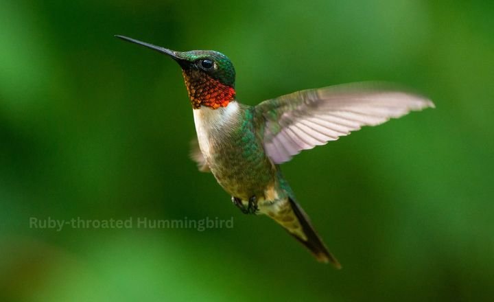
[(290, 161), (302, 150), (336, 141), (360, 130), (434, 104), (392, 84), (362, 82), (309, 89), (266, 100), (256, 113), (266, 124), (263, 144), (274, 163)]

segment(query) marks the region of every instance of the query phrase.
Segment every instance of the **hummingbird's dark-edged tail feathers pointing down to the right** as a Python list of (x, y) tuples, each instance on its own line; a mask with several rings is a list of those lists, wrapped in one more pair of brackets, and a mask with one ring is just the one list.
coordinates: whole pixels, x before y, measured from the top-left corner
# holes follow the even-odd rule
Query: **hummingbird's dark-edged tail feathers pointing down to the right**
[(331, 262), (336, 268), (341, 268), (340, 262), (328, 251), (324, 242), (312, 227), (309, 217), (295, 200), (288, 198), (287, 207), (283, 208), (276, 216), (271, 216), (271, 218), (281, 224), (290, 235), (308, 248), (318, 262)]

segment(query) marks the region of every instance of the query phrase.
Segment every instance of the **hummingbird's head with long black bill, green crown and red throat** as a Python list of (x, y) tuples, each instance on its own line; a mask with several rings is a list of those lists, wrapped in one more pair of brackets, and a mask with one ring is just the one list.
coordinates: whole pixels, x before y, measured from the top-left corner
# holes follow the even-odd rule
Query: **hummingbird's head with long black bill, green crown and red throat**
[(217, 109), (235, 100), (235, 69), (224, 54), (213, 50), (173, 51), (126, 36), (117, 38), (149, 47), (178, 62), (194, 109)]

